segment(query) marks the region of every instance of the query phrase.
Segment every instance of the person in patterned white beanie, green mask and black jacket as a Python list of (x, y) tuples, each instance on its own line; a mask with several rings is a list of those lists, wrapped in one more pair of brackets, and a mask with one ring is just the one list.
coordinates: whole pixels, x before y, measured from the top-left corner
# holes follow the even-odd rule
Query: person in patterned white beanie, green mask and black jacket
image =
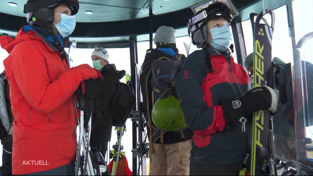
[[(92, 116), (92, 130), (90, 137), (90, 148), (93, 153), (101, 152), (105, 157), (108, 142), (111, 140), (112, 132), (112, 108), (110, 107), (110, 100), (118, 89), (120, 79), (122, 79), (126, 72), (125, 70), (116, 70), (114, 64), (110, 64), (109, 54), (104, 48), (96, 48), (92, 54), (92, 65), (95, 69), (99, 70), (103, 77), (102, 88), (99, 94), (99, 103), (102, 116), (93, 114)], [(109, 169), (102, 175), (110, 175)]]

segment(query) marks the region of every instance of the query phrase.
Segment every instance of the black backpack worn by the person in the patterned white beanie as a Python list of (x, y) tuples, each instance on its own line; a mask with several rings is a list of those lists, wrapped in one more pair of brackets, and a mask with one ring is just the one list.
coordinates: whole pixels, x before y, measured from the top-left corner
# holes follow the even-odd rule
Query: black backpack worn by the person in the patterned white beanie
[(136, 103), (135, 93), (131, 83), (121, 83), (119, 81), (115, 94), (110, 100), (111, 112), (113, 113), (112, 125), (121, 127), (125, 124)]

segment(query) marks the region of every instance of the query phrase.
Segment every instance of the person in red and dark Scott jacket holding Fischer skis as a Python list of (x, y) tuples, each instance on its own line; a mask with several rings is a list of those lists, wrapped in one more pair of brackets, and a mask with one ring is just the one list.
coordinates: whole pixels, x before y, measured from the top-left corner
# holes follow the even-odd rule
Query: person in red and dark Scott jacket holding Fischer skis
[(228, 50), (232, 18), (226, 4), (213, 3), (188, 23), (193, 44), (203, 48), (186, 58), (176, 77), (180, 106), (194, 132), (190, 175), (238, 175), (248, 152), (248, 134), (239, 119), (277, 107), (273, 89), (248, 91), (248, 74)]

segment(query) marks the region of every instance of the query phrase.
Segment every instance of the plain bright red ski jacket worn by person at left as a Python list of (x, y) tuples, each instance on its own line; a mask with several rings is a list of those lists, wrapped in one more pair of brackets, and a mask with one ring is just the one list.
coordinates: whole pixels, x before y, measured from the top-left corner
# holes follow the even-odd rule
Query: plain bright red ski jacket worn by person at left
[(34, 31), (2, 36), (0, 44), (9, 53), (3, 63), (15, 117), (13, 175), (69, 164), (77, 151), (73, 94), (97, 72), (87, 64), (69, 69), (56, 47)]

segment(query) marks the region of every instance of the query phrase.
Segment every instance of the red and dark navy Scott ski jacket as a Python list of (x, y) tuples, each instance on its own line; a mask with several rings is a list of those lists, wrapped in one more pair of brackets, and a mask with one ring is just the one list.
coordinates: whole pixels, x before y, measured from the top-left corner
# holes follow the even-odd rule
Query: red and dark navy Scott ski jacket
[[(212, 50), (212, 49), (211, 49)], [(204, 50), (190, 54), (176, 78), (180, 106), (194, 132), (190, 161), (206, 165), (232, 165), (243, 161), (248, 135), (238, 122), (225, 130), (221, 101), (239, 99), (248, 91), (249, 77), (230, 53), (210, 51), (212, 73), (208, 72)]]

